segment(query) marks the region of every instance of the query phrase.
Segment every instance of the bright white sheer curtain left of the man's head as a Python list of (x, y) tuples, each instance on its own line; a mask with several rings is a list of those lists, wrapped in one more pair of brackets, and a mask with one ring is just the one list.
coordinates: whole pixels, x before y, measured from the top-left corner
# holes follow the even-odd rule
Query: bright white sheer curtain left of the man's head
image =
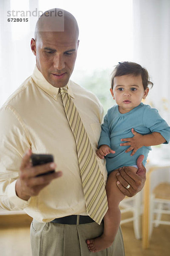
[(32, 10), (33, 3), (38, 6), (38, 0), (0, 0), (0, 106), (30, 76), (35, 65), (30, 41), (37, 19), (28, 24), (7, 22), (8, 18), (14, 18), (8, 17), (7, 11)]

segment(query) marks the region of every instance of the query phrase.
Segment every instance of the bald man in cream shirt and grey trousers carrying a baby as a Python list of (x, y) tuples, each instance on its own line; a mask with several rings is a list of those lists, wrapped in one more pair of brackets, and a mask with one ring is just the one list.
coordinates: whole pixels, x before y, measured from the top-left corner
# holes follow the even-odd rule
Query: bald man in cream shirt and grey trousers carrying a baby
[[(64, 31), (55, 31), (59, 18), (56, 13), (63, 18), (60, 24), (62, 28), (64, 21)], [(34, 72), (0, 110), (0, 207), (24, 209), (33, 218), (33, 256), (92, 255), (87, 239), (103, 232), (103, 222), (98, 224), (88, 216), (78, 149), (59, 89), (68, 89), (95, 152), (103, 109), (94, 94), (70, 80), (78, 37), (73, 15), (61, 9), (45, 12), (37, 21), (35, 38), (31, 39), (31, 50), (36, 56)], [(33, 167), (32, 153), (53, 154), (55, 163)], [(105, 161), (97, 158), (97, 163), (105, 184)], [(145, 169), (139, 167), (140, 175), (131, 174), (128, 168), (120, 169), (117, 185), (125, 195), (133, 196), (144, 186)], [(53, 169), (56, 172), (43, 175)], [(124, 256), (121, 230), (111, 247), (95, 255)]]

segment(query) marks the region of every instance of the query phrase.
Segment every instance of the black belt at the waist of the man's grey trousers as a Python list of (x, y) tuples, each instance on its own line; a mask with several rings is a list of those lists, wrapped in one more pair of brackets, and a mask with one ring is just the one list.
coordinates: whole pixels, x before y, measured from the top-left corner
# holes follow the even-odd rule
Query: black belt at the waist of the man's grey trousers
[(86, 215), (69, 215), (62, 218), (56, 218), (53, 221), (59, 224), (79, 225), (94, 222), (94, 220)]

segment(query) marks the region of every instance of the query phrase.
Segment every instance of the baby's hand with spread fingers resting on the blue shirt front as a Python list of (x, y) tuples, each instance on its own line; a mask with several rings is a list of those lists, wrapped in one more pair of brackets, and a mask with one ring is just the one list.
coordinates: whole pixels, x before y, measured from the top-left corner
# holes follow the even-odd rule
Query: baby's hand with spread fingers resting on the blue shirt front
[(133, 156), (139, 148), (143, 147), (143, 135), (137, 133), (133, 128), (131, 131), (134, 136), (132, 138), (122, 139), (121, 141), (127, 141), (127, 142), (122, 143), (120, 145), (121, 146), (130, 146), (125, 152), (127, 153), (127, 152), (130, 152), (131, 150), (133, 150), (132, 153), (130, 154), (131, 156)]

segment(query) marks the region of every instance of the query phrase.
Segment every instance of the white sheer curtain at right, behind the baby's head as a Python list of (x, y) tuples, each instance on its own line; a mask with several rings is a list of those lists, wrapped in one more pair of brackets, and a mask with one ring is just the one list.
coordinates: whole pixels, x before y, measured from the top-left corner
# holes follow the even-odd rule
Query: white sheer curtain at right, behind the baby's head
[(133, 59), (154, 83), (146, 103), (170, 124), (170, 0), (133, 0)]

